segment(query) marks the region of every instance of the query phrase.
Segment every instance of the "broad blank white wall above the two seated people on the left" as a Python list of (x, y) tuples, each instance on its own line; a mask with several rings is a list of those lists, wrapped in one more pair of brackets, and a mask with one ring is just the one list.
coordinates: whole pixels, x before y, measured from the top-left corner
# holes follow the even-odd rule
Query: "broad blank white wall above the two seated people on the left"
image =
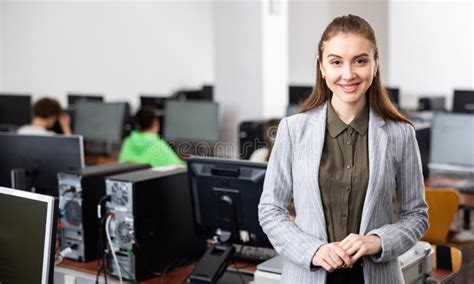
[(138, 103), (214, 81), (210, 1), (4, 1), (4, 91)]

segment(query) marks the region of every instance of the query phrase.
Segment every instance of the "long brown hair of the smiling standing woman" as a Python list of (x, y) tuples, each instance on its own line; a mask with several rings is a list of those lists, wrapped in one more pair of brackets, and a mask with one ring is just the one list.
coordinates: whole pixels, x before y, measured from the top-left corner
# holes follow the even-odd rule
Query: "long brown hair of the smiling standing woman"
[[(379, 59), (375, 33), (366, 20), (354, 15), (335, 18), (326, 27), (323, 34), (321, 35), (321, 39), (318, 44), (318, 60), (316, 62), (316, 82), (311, 95), (301, 104), (300, 112), (314, 109), (329, 100), (332, 96), (331, 90), (323, 80), (321, 70), (319, 69), (319, 64), (321, 64), (320, 58), (323, 58), (323, 43), (330, 40), (338, 33), (353, 33), (362, 35), (372, 43), (374, 47), (374, 57), (376, 60)], [(370, 108), (382, 118), (404, 121), (412, 124), (410, 120), (405, 115), (400, 113), (392, 103), (380, 77), (380, 70), (379, 67), (377, 67), (376, 76), (366, 92)]]

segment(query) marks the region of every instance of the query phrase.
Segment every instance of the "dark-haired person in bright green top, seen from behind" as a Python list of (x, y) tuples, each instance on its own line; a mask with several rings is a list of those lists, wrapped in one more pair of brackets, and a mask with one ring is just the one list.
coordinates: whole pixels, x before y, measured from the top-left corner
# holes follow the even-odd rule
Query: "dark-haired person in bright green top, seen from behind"
[(120, 149), (120, 162), (150, 164), (153, 167), (183, 165), (178, 155), (158, 136), (160, 122), (153, 108), (142, 107), (134, 118), (135, 129)]

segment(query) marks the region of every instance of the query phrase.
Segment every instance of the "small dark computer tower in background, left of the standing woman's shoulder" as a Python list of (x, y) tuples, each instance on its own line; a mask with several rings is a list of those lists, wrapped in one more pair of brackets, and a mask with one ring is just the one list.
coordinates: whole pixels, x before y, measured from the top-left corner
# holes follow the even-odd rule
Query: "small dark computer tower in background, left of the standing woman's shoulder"
[(265, 120), (255, 120), (240, 123), (239, 157), (241, 159), (250, 159), (255, 150), (265, 146), (265, 139), (263, 138), (265, 122)]

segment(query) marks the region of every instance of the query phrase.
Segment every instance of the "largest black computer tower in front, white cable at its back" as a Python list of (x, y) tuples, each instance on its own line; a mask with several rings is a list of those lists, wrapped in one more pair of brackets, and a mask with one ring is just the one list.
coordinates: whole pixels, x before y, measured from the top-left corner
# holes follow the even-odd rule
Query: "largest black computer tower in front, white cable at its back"
[[(142, 281), (204, 252), (205, 240), (194, 233), (186, 169), (121, 174), (106, 185), (108, 229), (122, 277)], [(119, 275), (110, 251), (107, 263)]]

